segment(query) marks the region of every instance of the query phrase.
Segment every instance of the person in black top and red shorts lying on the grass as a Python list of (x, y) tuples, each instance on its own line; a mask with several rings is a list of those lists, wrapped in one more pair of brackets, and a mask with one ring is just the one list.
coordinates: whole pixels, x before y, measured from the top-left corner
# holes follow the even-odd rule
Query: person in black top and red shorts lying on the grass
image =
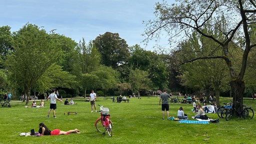
[(59, 135), (59, 134), (69, 134), (69, 133), (80, 133), (80, 130), (73, 129), (68, 131), (63, 131), (59, 129), (50, 130), (43, 122), (39, 123), (39, 130), (40, 136), (42, 135)]

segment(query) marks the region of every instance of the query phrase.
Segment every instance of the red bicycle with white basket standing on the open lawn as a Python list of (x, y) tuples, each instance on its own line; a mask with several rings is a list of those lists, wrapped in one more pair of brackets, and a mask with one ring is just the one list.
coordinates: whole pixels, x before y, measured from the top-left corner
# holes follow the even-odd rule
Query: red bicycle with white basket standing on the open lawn
[(99, 111), (100, 117), (96, 119), (94, 126), (96, 127), (97, 131), (102, 132), (103, 134), (107, 131), (109, 136), (112, 136), (112, 121), (109, 119), (110, 115), (108, 114), (109, 109), (104, 107), (103, 105), (100, 106)]

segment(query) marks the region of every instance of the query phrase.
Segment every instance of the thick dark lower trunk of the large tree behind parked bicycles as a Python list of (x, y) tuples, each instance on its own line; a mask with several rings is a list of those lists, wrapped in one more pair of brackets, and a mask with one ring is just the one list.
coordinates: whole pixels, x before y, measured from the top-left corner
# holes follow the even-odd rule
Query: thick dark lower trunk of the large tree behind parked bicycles
[[(230, 82), (233, 104), (236, 109), (241, 109), (243, 104), (243, 94), (244, 94), (244, 81), (243, 80), (232, 80)], [(233, 113), (236, 115), (237, 113)]]

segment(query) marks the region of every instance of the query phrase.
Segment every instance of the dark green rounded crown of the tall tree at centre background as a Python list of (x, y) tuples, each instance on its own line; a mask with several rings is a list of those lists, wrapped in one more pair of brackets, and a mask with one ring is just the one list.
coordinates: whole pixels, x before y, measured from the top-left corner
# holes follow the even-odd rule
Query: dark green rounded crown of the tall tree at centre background
[(101, 63), (116, 68), (127, 61), (128, 44), (118, 33), (105, 32), (97, 36), (93, 43), (101, 54)]

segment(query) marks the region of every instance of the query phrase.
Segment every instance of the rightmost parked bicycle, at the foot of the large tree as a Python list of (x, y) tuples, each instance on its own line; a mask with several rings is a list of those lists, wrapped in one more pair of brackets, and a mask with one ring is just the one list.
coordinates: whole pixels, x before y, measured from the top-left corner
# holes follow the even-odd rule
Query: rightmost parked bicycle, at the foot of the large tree
[[(236, 101), (236, 102), (239, 103), (238, 101)], [(234, 107), (234, 105), (232, 104), (231, 108), (229, 108), (225, 112), (225, 119), (230, 120), (232, 118), (234, 112), (236, 112), (238, 114), (238, 117), (243, 117), (244, 119), (251, 119), (254, 116), (254, 112), (251, 107), (246, 106), (245, 104), (242, 104), (242, 108), (236, 109)]]

